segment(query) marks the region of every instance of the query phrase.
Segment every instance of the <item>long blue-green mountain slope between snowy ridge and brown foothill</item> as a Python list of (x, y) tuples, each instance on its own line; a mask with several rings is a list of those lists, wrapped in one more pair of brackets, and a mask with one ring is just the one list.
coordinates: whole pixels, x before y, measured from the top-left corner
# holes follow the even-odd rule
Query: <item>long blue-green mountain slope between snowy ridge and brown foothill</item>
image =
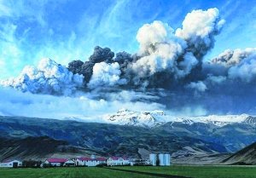
[(177, 152), (189, 146), (196, 152), (226, 152), (224, 146), (194, 138), (176, 135), (161, 128), (147, 129), (106, 123), (81, 123), (42, 118), (0, 117), (0, 136), (26, 138), (47, 135), (67, 141), (86, 151), (102, 156), (127, 155), (139, 157), (138, 149), (150, 152)]

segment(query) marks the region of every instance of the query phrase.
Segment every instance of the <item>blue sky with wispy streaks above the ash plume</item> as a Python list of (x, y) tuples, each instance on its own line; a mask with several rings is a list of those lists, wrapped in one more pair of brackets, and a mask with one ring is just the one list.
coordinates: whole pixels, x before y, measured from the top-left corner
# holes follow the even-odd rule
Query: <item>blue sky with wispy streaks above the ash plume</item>
[(255, 0), (0, 0), (0, 78), (49, 57), (67, 65), (86, 60), (96, 45), (136, 53), (137, 30), (162, 20), (182, 26), (193, 9), (216, 7), (226, 20), (206, 59), (224, 49), (256, 47)]

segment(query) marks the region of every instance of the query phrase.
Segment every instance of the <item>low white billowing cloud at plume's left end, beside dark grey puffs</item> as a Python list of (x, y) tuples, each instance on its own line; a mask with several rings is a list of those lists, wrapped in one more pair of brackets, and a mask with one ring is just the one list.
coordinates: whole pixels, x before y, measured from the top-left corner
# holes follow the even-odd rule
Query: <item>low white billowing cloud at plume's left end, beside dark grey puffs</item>
[(65, 66), (45, 58), (39, 61), (38, 67), (25, 66), (18, 78), (1, 84), (32, 94), (71, 95), (83, 85), (83, 80), (82, 75), (73, 74)]

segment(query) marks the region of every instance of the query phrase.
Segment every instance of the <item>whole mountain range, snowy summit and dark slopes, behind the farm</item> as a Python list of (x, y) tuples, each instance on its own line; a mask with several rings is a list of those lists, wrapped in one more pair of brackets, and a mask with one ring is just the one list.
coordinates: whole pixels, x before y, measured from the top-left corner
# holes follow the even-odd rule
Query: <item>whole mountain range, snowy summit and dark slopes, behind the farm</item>
[[(1, 143), (13, 141), (14, 146), (9, 147), (18, 151), (8, 154), (1, 146), (0, 160), (47, 158), (58, 155), (64, 149), (67, 150), (66, 156), (94, 153), (146, 158), (148, 152), (170, 152), (173, 161), (177, 160), (178, 163), (189, 158), (194, 158), (192, 162), (195, 162), (195, 157), (205, 155), (220, 162), (232, 152), (256, 141), (256, 118), (246, 114), (175, 118), (162, 111), (134, 112), (123, 109), (95, 121), (89, 123), (84, 118), (57, 120), (2, 116)], [(45, 141), (45, 136), (49, 141)], [(20, 148), (19, 145), (27, 138), (34, 138), (36, 142), (43, 139), (44, 145), (50, 141), (58, 144), (54, 150), (39, 152), (36, 156), (24, 151), (20, 154), (21, 148), (26, 146)]]

